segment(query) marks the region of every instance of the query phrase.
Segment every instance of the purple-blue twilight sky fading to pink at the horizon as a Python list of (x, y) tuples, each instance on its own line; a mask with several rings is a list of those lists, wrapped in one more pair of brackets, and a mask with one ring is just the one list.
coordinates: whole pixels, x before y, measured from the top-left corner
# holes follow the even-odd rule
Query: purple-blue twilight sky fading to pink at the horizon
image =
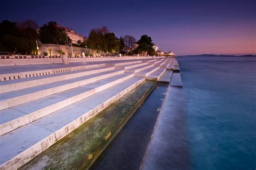
[(107, 26), (117, 37), (150, 36), (177, 55), (256, 54), (256, 0), (18, 0), (0, 3), (0, 22), (55, 21), (82, 36)]

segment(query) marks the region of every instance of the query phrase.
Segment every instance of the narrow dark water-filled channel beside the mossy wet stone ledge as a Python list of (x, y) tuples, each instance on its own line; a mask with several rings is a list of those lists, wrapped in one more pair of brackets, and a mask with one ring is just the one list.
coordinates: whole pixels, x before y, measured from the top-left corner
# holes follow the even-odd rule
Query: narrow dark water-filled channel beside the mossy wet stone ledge
[(169, 84), (158, 83), (90, 169), (139, 169)]

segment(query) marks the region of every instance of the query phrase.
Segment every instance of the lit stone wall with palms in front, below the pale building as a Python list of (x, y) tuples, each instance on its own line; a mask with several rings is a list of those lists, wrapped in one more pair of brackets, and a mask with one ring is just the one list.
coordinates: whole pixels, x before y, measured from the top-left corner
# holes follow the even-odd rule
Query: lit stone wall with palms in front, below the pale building
[[(50, 56), (49, 49), (51, 50), (51, 55), (58, 55), (58, 50), (62, 50), (66, 55), (72, 55), (71, 46), (66, 45), (57, 45), (57, 44), (41, 44), (39, 45), (39, 54), (43, 55), (44, 52), (48, 53), (48, 56)], [(87, 50), (88, 54), (91, 54), (91, 49), (88, 48)], [(86, 55), (86, 48), (82, 47), (73, 47), (73, 55), (74, 56), (82, 56), (82, 54)], [(96, 51), (93, 51), (93, 56), (98, 56), (99, 54), (96, 53)]]

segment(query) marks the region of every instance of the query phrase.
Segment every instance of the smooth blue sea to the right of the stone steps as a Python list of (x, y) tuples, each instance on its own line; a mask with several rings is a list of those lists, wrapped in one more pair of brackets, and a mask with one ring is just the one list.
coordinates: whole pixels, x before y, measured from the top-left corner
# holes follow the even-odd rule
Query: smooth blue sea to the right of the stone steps
[(191, 169), (256, 169), (256, 58), (177, 58)]

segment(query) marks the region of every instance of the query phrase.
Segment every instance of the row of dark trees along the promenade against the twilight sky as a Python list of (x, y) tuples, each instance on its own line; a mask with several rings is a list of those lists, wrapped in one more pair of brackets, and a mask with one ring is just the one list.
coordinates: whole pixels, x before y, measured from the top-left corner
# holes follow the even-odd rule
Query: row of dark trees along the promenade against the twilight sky
[[(23, 22), (3, 20), (0, 23), (1, 54), (37, 54), (36, 41), (42, 44), (72, 44), (65, 29), (56, 22), (51, 21), (41, 27), (33, 20)], [(91, 54), (96, 51), (100, 55), (156, 54), (151, 37), (143, 35), (138, 41), (129, 35), (118, 38), (106, 26), (92, 29), (84, 41), (78, 40), (77, 44), (72, 45), (90, 48)]]

